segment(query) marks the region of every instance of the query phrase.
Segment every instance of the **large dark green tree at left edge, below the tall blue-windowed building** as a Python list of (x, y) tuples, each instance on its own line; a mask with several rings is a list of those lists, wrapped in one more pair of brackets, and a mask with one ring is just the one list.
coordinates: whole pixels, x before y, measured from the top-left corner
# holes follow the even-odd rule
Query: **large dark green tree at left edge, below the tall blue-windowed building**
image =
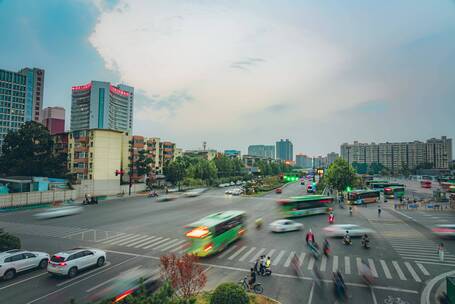
[(26, 122), (5, 136), (0, 172), (16, 176), (66, 177), (66, 155), (54, 155), (53, 141), (42, 124)]

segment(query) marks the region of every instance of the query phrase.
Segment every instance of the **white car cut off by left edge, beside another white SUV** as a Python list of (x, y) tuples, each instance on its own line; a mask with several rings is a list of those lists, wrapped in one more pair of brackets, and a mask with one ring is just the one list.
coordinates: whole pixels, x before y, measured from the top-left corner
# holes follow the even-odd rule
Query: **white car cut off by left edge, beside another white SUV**
[(49, 261), (49, 254), (38, 251), (27, 251), (13, 249), (0, 253), (0, 276), (3, 279), (11, 280), (17, 273), (41, 268), (46, 269)]

